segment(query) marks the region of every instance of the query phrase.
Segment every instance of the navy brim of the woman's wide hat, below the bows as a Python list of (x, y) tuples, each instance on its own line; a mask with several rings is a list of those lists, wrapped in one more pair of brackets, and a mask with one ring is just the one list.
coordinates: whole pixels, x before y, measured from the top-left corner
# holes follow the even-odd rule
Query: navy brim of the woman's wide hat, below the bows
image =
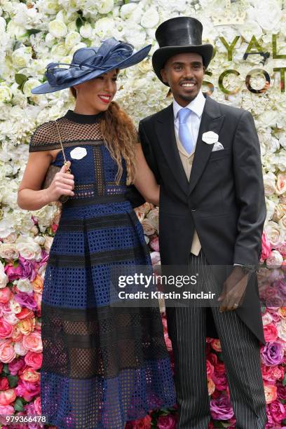
[(133, 65), (138, 64), (138, 62), (141, 62), (142, 60), (144, 60), (144, 58), (147, 57), (147, 55), (149, 54), (150, 49), (151, 49), (151, 45), (145, 46), (144, 48), (130, 55), (130, 57), (126, 58), (121, 62), (118, 62), (117, 64), (113, 64), (109, 69), (106, 69), (104, 71), (90, 70), (90, 73), (87, 73), (84, 76), (81, 76), (77, 79), (74, 79), (73, 81), (69, 81), (59, 86), (51, 86), (50, 83), (45, 82), (42, 85), (39, 85), (39, 86), (36, 86), (36, 88), (33, 88), (31, 92), (32, 94), (55, 93), (55, 91), (71, 88), (71, 86), (79, 85), (79, 83), (91, 81), (92, 79), (95, 79), (97, 76), (101, 76), (102, 74), (108, 73), (108, 71), (111, 71), (114, 69), (127, 69), (128, 67), (132, 67)]

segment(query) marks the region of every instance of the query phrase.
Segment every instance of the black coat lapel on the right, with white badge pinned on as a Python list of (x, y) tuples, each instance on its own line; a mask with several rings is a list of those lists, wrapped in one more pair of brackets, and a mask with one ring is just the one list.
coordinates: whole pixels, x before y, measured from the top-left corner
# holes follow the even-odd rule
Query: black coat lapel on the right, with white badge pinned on
[(191, 177), (189, 181), (189, 193), (191, 193), (198, 183), (200, 176), (207, 165), (208, 158), (212, 152), (214, 144), (203, 142), (202, 136), (204, 132), (213, 131), (219, 135), (219, 130), (222, 127), (224, 116), (219, 110), (219, 104), (207, 97), (205, 100), (205, 108), (200, 121), (200, 129), (198, 130), (198, 139), (196, 142), (196, 150), (193, 156), (193, 165), (191, 168)]

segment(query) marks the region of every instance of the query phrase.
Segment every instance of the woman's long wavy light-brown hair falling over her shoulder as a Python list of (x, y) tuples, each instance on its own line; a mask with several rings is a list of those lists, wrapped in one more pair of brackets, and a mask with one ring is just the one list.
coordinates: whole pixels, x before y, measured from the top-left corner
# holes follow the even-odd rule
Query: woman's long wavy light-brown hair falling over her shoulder
[[(71, 94), (76, 98), (76, 90), (71, 87)], [(111, 102), (107, 111), (102, 112), (100, 130), (104, 143), (117, 164), (116, 184), (122, 177), (122, 158), (127, 170), (126, 184), (135, 181), (135, 144), (138, 135), (132, 119), (119, 107), (116, 102)]]

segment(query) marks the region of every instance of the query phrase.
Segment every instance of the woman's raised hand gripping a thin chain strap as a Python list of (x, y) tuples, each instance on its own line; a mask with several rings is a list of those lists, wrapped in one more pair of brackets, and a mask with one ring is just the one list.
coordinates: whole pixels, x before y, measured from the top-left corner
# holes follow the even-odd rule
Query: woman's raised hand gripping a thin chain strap
[(53, 182), (45, 189), (48, 203), (57, 201), (62, 195), (74, 196), (74, 175), (67, 172), (70, 165), (70, 161), (67, 161), (67, 166), (62, 165), (61, 170), (55, 174)]

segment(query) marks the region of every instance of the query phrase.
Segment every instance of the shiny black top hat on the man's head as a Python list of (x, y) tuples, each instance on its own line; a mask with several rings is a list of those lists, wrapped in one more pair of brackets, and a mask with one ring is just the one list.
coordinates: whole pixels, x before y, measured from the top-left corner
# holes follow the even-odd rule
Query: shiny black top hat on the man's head
[[(155, 37), (160, 48), (154, 52), (152, 64), (158, 78), (163, 82), (161, 69), (165, 62), (178, 53), (192, 52), (203, 57), (203, 65), (207, 68), (212, 59), (213, 46), (202, 44), (203, 25), (196, 18), (179, 16), (171, 18), (156, 30)], [(163, 82), (165, 83), (165, 82)], [(168, 86), (168, 83), (165, 83)]]

